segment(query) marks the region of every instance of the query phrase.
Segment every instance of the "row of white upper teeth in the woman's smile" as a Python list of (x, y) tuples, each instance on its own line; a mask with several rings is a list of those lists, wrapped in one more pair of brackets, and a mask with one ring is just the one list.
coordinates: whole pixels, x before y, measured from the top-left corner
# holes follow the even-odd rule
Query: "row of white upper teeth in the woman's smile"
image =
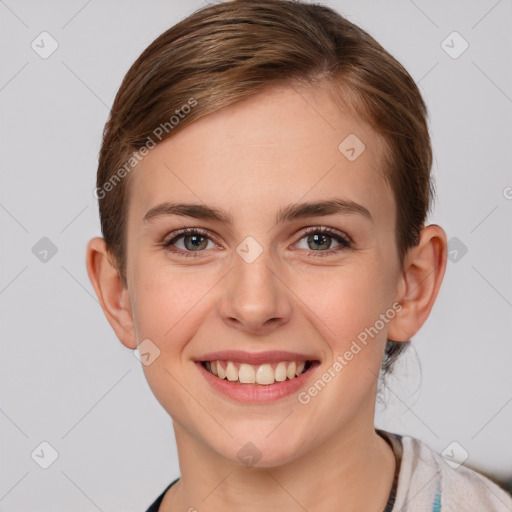
[(284, 382), (287, 378), (294, 379), (304, 372), (305, 361), (281, 361), (277, 364), (252, 365), (234, 361), (207, 361), (205, 367), (219, 379), (241, 384), (269, 385)]

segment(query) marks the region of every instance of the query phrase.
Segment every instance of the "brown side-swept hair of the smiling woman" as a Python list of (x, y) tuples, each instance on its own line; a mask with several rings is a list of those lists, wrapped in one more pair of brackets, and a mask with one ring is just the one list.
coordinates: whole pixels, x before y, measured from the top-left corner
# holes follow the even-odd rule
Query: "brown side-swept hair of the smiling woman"
[[(367, 32), (329, 7), (234, 0), (199, 9), (161, 34), (133, 63), (114, 99), (96, 194), (103, 237), (125, 286), (129, 172), (139, 155), (270, 86), (318, 84), (336, 90), (339, 104), (384, 141), (384, 177), (395, 199), (403, 266), (434, 197), (427, 108), (414, 80)], [(384, 374), (409, 344), (387, 340)]]

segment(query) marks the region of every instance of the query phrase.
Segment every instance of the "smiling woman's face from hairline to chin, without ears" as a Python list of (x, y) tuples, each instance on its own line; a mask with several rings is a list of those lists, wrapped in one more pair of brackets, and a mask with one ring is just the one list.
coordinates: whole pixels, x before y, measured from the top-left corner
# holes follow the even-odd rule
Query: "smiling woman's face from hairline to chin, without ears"
[[(138, 343), (159, 352), (143, 369), (205, 453), (238, 463), (252, 449), (273, 466), (373, 429), (400, 274), (382, 151), (326, 89), (275, 87), (178, 132), (130, 176), (128, 294)], [(303, 207), (326, 201), (342, 206)], [(231, 360), (231, 378), (252, 362), (249, 380), (312, 363), (240, 384), (211, 359)]]

